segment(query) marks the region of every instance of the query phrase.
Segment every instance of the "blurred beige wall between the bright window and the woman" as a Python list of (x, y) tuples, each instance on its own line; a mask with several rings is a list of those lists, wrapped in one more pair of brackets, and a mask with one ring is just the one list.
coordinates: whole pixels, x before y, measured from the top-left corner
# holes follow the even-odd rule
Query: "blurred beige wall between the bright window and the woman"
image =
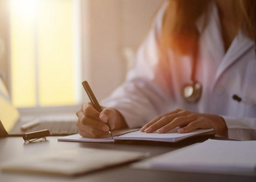
[(101, 100), (124, 81), (127, 72), (124, 55), (133, 58), (131, 51), (136, 51), (142, 43), (162, 0), (88, 2), (82, 3), (82, 37), (83, 44), (85, 41), (89, 44), (89, 51), (82, 52), (83, 61), (89, 59), (90, 63), (84, 65), (83, 72), (84, 79), (89, 80)]

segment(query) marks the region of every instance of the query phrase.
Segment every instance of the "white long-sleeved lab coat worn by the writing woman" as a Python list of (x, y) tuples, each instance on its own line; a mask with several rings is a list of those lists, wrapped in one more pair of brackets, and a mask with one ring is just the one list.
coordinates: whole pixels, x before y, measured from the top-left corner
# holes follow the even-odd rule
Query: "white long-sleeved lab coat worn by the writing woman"
[(212, 3), (204, 31), (203, 16), (197, 20), (201, 34), (196, 80), (203, 85), (202, 96), (198, 103), (187, 103), (182, 98), (181, 87), (191, 78), (192, 59), (172, 50), (167, 56), (159, 52), (166, 5), (158, 12), (139, 48), (127, 80), (102, 105), (120, 111), (129, 127), (141, 127), (175, 108), (217, 114), (225, 119), (229, 138), (256, 139), (256, 104), (247, 106), (232, 99), (237, 94), (246, 102), (256, 101), (254, 41), (239, 32), (225, 53), (218, 9)]

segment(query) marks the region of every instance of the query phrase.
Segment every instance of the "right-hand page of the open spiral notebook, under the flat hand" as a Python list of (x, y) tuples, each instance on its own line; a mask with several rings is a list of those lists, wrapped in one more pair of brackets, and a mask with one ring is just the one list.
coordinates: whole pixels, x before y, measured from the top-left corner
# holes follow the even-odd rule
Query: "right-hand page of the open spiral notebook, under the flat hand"
[(178, 133), (178, 128), (174, 128), (167, 133), (158, 134), (157, 131), (153, 133), (145, 133), (140, 131), (130, 132), (125, 135), (114, 137), (115, 140), (147, 140), (147, 141), (163, 141), (163, 142), (176, 142), (184, 138), (198, 135), (201, 133), (213, 131), (213, 129), (195, 130), (189, 133)]

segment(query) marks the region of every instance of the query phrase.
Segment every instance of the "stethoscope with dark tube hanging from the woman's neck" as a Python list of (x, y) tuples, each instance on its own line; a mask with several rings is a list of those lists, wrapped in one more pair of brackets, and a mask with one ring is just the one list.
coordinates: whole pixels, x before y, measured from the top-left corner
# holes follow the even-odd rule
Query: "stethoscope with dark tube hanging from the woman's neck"
[[(197, 46), (195, 48), (193, 58), (192, 58), (192, 73), (190, 81), (185, 84), (181, 89), (181, 95), (183, 96), (184, 100), (188, 103), (196, 103), (199, 101), (202, 95), (202, 84), (195, 79), (196, 74), (196, 65), (197, 65)], [(256, 39), (255, 39), (255, 54), (256, 54)], [(247, 103), (244, 102), (238, 95), (233, 95), (232, 97), (234, 100), (237, 100), (240, 103), (246, 105), (253, 105), (256, 102)]]

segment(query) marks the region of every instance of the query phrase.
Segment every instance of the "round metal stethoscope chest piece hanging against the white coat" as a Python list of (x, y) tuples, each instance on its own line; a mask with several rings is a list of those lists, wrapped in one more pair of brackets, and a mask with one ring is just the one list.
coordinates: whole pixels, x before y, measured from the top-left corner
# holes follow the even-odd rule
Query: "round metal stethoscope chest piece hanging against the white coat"
[(190, 81), (182, 87), (182, 96), (188, 103), (196, 103), (202, 94), (202, 84)]

